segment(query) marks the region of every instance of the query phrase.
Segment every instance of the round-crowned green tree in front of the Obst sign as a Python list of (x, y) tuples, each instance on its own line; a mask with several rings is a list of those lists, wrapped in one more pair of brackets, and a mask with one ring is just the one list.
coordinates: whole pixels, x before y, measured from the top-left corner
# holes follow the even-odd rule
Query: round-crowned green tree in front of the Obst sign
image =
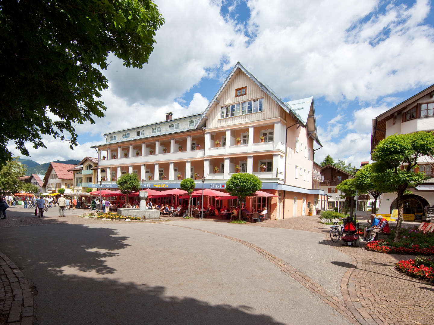
[(237, 172), (227, 180), (226, 191), (232, 196), (238, 196), (240, 205), (238, 220), (241, 220), (241, 202), (243, 199), (253, 195), (254, 192), (259, 191), (261, 188), (262, 182), (258, 176), (249, 173)]

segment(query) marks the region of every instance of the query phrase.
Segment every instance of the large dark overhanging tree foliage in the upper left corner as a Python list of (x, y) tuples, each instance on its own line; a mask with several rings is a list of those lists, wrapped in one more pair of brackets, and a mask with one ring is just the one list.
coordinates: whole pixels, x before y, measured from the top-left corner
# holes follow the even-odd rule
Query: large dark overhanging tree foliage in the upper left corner
[(25, 141), (45, 147), (43, 134), (66, 132), (73, 149), (74, 126), (104, 116), (109, 53), (142, 68), (163, 23), (151, 0), (1, 1), (0, 165), (10, 140), (28, 156)]

